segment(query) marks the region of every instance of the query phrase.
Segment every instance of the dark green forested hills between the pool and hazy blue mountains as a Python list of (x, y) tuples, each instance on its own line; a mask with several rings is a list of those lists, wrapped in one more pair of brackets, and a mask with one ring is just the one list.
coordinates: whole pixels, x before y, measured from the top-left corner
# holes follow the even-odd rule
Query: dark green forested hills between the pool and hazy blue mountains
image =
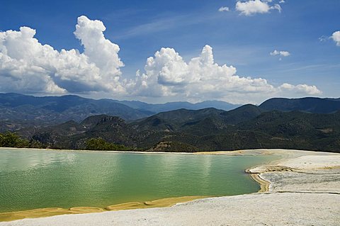
[[(300, 101), (304, 99), (310, 103), (310, 98)], [(315, 100), (320, 102), (320, 98)], [(329, 99), (321, 100), (329, 102)], [(132, 121), (94, 115), (80, 123), (71, 120), (46, 128), (26, 128), (18, 133), (49, 147), (67, 149), (85, 149), (86, 140), (101, 137), (132, 150), (162, 152), (256, 148), (340, 152), (340, 108), (334, 111), (333, 106), (337, 101), (331, 99), (328, 110), (324, 110), (327, 113), (313, 113), (315, 109), (322, 109), (315, 103), (310, 105), (313, 108), (302, 105), (301, 111), (278, 111), (251, 104), (231, 111), (181, 108)], [(275, 107), (282, 107), (281, 99)]]

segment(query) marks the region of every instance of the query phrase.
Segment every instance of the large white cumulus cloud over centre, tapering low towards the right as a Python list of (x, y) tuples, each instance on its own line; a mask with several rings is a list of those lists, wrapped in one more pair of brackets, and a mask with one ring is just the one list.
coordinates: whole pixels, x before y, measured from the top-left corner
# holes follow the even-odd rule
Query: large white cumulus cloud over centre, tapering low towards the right
[[(169, 97), (191, 101), (217, 98), (246, 103), (270, 96), (321, 94), (316, 86), (283, 84), (273, 86), (266, 79), (240, 77), (235, 67), (214, 62), (212, 47), (205, 45), (198, 57), (185, 62), (172, 48), (162, 48), (149, 57), (144, 72), (130, 81), (133, 96)], [(249, 98), (251, 96), (251, 98)]]

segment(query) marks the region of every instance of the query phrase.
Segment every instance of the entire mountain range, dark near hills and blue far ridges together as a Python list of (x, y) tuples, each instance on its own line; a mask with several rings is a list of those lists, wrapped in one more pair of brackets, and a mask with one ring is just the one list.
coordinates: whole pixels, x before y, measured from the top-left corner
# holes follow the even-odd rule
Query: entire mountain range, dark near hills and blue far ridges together
[(271, 98), (236, 107), (222, 101), (150, 104), (0, 94), (0, 125), (63, 149), (85, 149), (86, 140), (100, 137), (132, 150), (164, 152), (340, 150), (339, 98)]

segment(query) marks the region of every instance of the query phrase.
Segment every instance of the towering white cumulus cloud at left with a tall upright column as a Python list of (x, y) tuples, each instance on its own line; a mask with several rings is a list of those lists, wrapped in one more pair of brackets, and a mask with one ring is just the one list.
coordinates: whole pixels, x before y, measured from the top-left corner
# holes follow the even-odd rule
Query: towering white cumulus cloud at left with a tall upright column
[(120, 91), (119, 47), (107, 40), (101, 21), (80, 16), (74, 34), (84, 45), (58, 52), (34, 38), (35, 30), (21, 27), (0, 33), (0, 89), (26, 93), (63, 94)]

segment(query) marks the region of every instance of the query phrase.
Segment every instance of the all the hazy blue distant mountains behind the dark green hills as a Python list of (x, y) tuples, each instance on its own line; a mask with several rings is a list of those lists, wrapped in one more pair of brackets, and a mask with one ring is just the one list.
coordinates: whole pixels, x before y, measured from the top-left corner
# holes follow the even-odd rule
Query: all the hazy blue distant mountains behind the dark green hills
[(223, 101), (151, 104), (140, 101), (94, 100), (74, 95), (38, 97), (23, 94), (0, 94), (0, 131), (18, 130), (28, 126), (57, 125), (67, 120), (80, 122), (90, 115), (115, 115), (130, 121), (145, 118), (161, 111), (207, 107), (230, 110), (236, 108), (237, 105)]

